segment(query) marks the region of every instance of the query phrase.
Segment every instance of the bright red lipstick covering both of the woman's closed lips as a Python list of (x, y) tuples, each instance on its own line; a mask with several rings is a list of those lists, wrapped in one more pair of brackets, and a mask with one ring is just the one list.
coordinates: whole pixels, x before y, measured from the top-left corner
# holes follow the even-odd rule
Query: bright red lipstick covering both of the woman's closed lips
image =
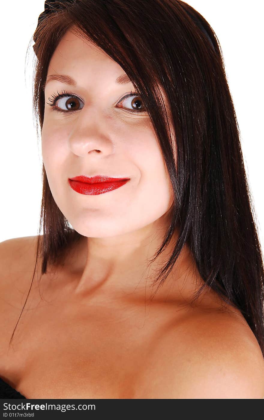
[(130, 178), (111, 178), (105, 175), (96, 175), (88, 177), (85, 175), (74, 176), (69, 178), (71, 188), (85, 195), (98, 195), (104, 194), (108, 191), (113, 191), (120, 186), (126, 184)]

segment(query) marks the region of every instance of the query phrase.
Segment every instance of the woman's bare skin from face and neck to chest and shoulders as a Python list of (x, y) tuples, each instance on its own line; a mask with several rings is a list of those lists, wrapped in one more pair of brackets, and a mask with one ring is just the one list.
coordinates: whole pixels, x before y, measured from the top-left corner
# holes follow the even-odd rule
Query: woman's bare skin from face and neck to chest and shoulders
[[(241, 313), (210, 289), (191, 303), (203, 282), (188, 247), (153, 293), (155, 269), (177, 239), (147, 265), (169, 223), (172, 189), (147, 115), (116, 106), (133, 89), (115, 84), (123, 73), (71, 32), (51, 58), (48, 76), (71, 76), (76, 86), (49, 81), (45, 102), (65, 89), (84, 106), (66, 115), (45, 105), (43, 161), (56, 204), (83, 237), (33, 283), (10, 351), (36, 237), (0, 244), (1, 377), (27, 398), (262, 398), (264, 360)], [(130, 181), (86, 196), (68, 185), (81, 174)]]

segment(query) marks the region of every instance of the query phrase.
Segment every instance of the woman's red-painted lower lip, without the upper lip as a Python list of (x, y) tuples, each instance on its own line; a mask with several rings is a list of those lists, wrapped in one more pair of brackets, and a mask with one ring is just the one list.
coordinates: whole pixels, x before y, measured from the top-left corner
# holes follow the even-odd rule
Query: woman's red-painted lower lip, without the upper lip
[(108, 191), (113, 191), (113, 189), (120, 188), (129, 181), (129, 179), (122, 179), (121, 181), (111, 181), (111, 182), (98, 182), (96, 184), (87, 184), (86, 182), (72, 181), (69, 179), (69, 184), (74, 191), (79, 192), (79, 194), (85, 195), (98, 195), (104, 194)]

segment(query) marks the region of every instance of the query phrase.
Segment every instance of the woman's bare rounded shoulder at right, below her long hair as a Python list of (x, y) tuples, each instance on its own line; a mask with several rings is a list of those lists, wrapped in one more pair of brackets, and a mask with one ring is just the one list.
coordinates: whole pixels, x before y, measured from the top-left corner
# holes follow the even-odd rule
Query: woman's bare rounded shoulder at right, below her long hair
[(152, 397), (263, 399), (263, 355), (249, 325), (237, 315), (200, 313), (170, 328), (157, 348), (166, 358), (156, 372), (162, 381), (151, 390)]

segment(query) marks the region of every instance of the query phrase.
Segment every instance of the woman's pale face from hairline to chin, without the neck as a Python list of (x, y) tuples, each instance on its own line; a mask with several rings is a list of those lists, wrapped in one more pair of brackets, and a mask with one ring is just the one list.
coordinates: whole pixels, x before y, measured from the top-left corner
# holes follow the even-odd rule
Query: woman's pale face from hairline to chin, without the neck
[[(43, 162), (56, 204), (72, 227), (87, 237), (116, 236), (164, 220), (172, 204), (169, 176), (151, 122), (146, 112), (135, 111), (144, 109), (144, 103), (137, 95), (123, 99), (135, 90), (131, 82), (116, 83), (124, 74), (105, 53), (70, 31), (49, 64)], [(51, 107), (64, 91), (68, 96)], [(103, 194), (86, 195), (69, 184), (69, 178), (79, 175), (129, 181)]]

